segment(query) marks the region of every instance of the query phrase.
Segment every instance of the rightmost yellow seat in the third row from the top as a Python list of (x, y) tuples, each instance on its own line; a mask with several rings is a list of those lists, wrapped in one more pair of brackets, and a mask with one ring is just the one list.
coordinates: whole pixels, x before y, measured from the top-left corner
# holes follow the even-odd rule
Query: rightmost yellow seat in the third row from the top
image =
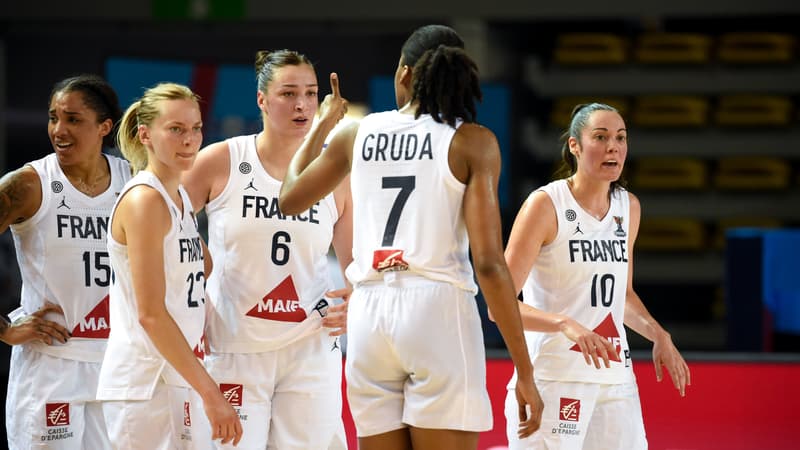
[(733, 156), (719, 160), (714, 184), (720, 189), (785, 189), (791, 167), (786, 161), (768, 156)]

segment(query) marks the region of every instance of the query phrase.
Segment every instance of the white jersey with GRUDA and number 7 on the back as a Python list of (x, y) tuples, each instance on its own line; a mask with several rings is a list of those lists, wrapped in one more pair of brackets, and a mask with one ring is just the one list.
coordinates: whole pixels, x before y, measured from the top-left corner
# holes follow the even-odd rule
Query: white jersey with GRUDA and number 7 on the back
[(450, 171), (456, 129), (430, 115), (370, 114), (359, 126), (350, 175), (354, 285), (408, 273), (477, 292), (462, 201)]

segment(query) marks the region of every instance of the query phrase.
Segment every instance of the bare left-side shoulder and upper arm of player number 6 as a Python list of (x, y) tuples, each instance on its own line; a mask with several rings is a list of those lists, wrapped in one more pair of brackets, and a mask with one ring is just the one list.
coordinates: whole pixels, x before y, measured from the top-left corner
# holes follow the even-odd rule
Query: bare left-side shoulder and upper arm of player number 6
[(189, 194), (195, 212), (219, 196), (228, 183), (230, 167), (227, 142), (215, 142), (200, 150), (192, 169), (181, 177), (181, 184)]

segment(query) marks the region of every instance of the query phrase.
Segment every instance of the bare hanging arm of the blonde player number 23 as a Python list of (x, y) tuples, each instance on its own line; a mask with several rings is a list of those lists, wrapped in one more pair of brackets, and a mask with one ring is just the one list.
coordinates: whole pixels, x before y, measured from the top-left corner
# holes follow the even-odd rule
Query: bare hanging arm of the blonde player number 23
[(224, 442), (241, 437), (241, 423), (230, 404), (195, 357), (164, 301), (164, 236), (171, 226), (161, 195), (147, 186), (132, 188), (120, 201), (114, 220), (114, 239), (128, 247), (139, 323), (161, 355), (203, 399), (215, 438)]

